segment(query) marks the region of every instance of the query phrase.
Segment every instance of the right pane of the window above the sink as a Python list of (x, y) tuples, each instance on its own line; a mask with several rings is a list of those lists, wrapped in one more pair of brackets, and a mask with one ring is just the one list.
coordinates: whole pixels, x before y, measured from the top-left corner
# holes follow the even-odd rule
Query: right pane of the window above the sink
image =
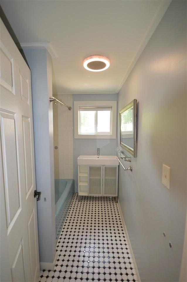
[(110, 132), (110, 111), (97, 112), (97, 132)]

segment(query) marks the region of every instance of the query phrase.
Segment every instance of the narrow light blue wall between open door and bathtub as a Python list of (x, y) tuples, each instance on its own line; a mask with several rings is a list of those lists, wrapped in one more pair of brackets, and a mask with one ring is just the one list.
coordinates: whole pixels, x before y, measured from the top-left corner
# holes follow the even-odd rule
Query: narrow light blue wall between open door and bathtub
[[(40, 262), (55, 258), (55, 180), (53, 152), (52, 60), (46, 49), (23, 50), (31, 70)], [(44, 197), (46, 202), (44, 202)]]

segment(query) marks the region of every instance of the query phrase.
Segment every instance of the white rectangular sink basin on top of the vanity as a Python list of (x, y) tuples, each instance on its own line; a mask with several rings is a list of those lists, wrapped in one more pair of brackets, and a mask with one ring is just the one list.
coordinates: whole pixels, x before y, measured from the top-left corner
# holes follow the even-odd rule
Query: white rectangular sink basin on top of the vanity
[(79, 156), (78, 164), (119, 165), (116, 156)]

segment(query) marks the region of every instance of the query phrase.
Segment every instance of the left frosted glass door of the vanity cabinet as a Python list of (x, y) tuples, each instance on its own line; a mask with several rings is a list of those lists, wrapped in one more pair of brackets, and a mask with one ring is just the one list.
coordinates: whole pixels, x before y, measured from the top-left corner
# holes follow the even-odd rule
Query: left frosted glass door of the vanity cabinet
[(102, 195), (103, 166), (89, 166), (89, 195)]

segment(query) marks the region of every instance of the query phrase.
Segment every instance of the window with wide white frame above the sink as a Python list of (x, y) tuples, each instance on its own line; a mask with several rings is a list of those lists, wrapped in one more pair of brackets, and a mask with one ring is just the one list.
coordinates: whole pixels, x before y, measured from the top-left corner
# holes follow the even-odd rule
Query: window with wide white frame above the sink
[(74, 102), (75, 138), (116, 138), (116, 101)]

